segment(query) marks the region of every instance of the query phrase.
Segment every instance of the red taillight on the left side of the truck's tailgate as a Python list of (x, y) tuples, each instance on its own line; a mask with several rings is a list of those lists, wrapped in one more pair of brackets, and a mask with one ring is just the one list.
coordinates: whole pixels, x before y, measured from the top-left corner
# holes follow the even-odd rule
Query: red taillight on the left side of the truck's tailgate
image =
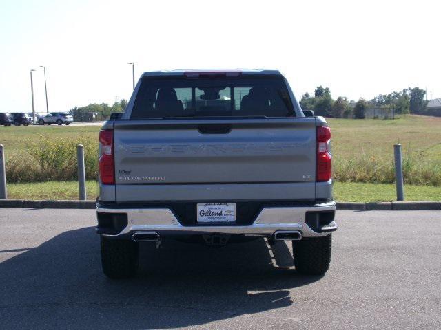
[(99, 157), (99, 177), (103, 184), (115, 184), (115, 164), (113, 148), (113, 129), (99, 131), (101, 155)]

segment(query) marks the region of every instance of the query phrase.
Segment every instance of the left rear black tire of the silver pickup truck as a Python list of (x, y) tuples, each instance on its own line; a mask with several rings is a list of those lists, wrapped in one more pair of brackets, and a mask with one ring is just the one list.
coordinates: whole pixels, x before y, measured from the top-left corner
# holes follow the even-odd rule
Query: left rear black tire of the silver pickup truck
[(138, 269), (139, 243), (101, 236), (101, 265), (109, 278), (130, 278)]

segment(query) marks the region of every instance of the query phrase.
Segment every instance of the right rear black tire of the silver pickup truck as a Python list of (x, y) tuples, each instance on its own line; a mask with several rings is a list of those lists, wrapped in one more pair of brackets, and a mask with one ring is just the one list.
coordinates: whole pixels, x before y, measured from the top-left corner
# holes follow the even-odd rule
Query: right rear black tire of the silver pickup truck
[(296, 271), (305, 275), (325, 274), (331, 263), (331, 241), (331, 234), (292, 241)]

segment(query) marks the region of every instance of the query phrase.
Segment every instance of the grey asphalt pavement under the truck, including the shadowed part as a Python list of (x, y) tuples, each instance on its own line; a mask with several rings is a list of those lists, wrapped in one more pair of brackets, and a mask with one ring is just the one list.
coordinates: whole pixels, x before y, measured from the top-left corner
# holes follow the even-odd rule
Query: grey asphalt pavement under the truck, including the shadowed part
[(143, 246), (139, 276), (110, 281), (94, 210), (0, 209), (0, 329), (440, 329), (441, 212), (337, 221), (324, 277), (258, 239)]

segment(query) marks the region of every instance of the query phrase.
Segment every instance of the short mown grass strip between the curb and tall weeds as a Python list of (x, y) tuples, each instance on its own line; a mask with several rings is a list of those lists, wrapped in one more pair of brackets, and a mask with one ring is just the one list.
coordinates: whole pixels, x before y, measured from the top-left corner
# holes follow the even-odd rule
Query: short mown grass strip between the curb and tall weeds
[[(98, 195), (96, 181), (87, 181), (88, 199), (95, 199)], [(405, 186), (407, 201), (439, 201), (440, 187), (433, 186)], [(41, 182), (26, 184), (8, 184), (8, 197), (11, 199), (78, 199), (78, 183)], [(396, 191), (393, 184), (359, 184), (336, 183), (334, 185), (336, 201), (394, 201)]]

